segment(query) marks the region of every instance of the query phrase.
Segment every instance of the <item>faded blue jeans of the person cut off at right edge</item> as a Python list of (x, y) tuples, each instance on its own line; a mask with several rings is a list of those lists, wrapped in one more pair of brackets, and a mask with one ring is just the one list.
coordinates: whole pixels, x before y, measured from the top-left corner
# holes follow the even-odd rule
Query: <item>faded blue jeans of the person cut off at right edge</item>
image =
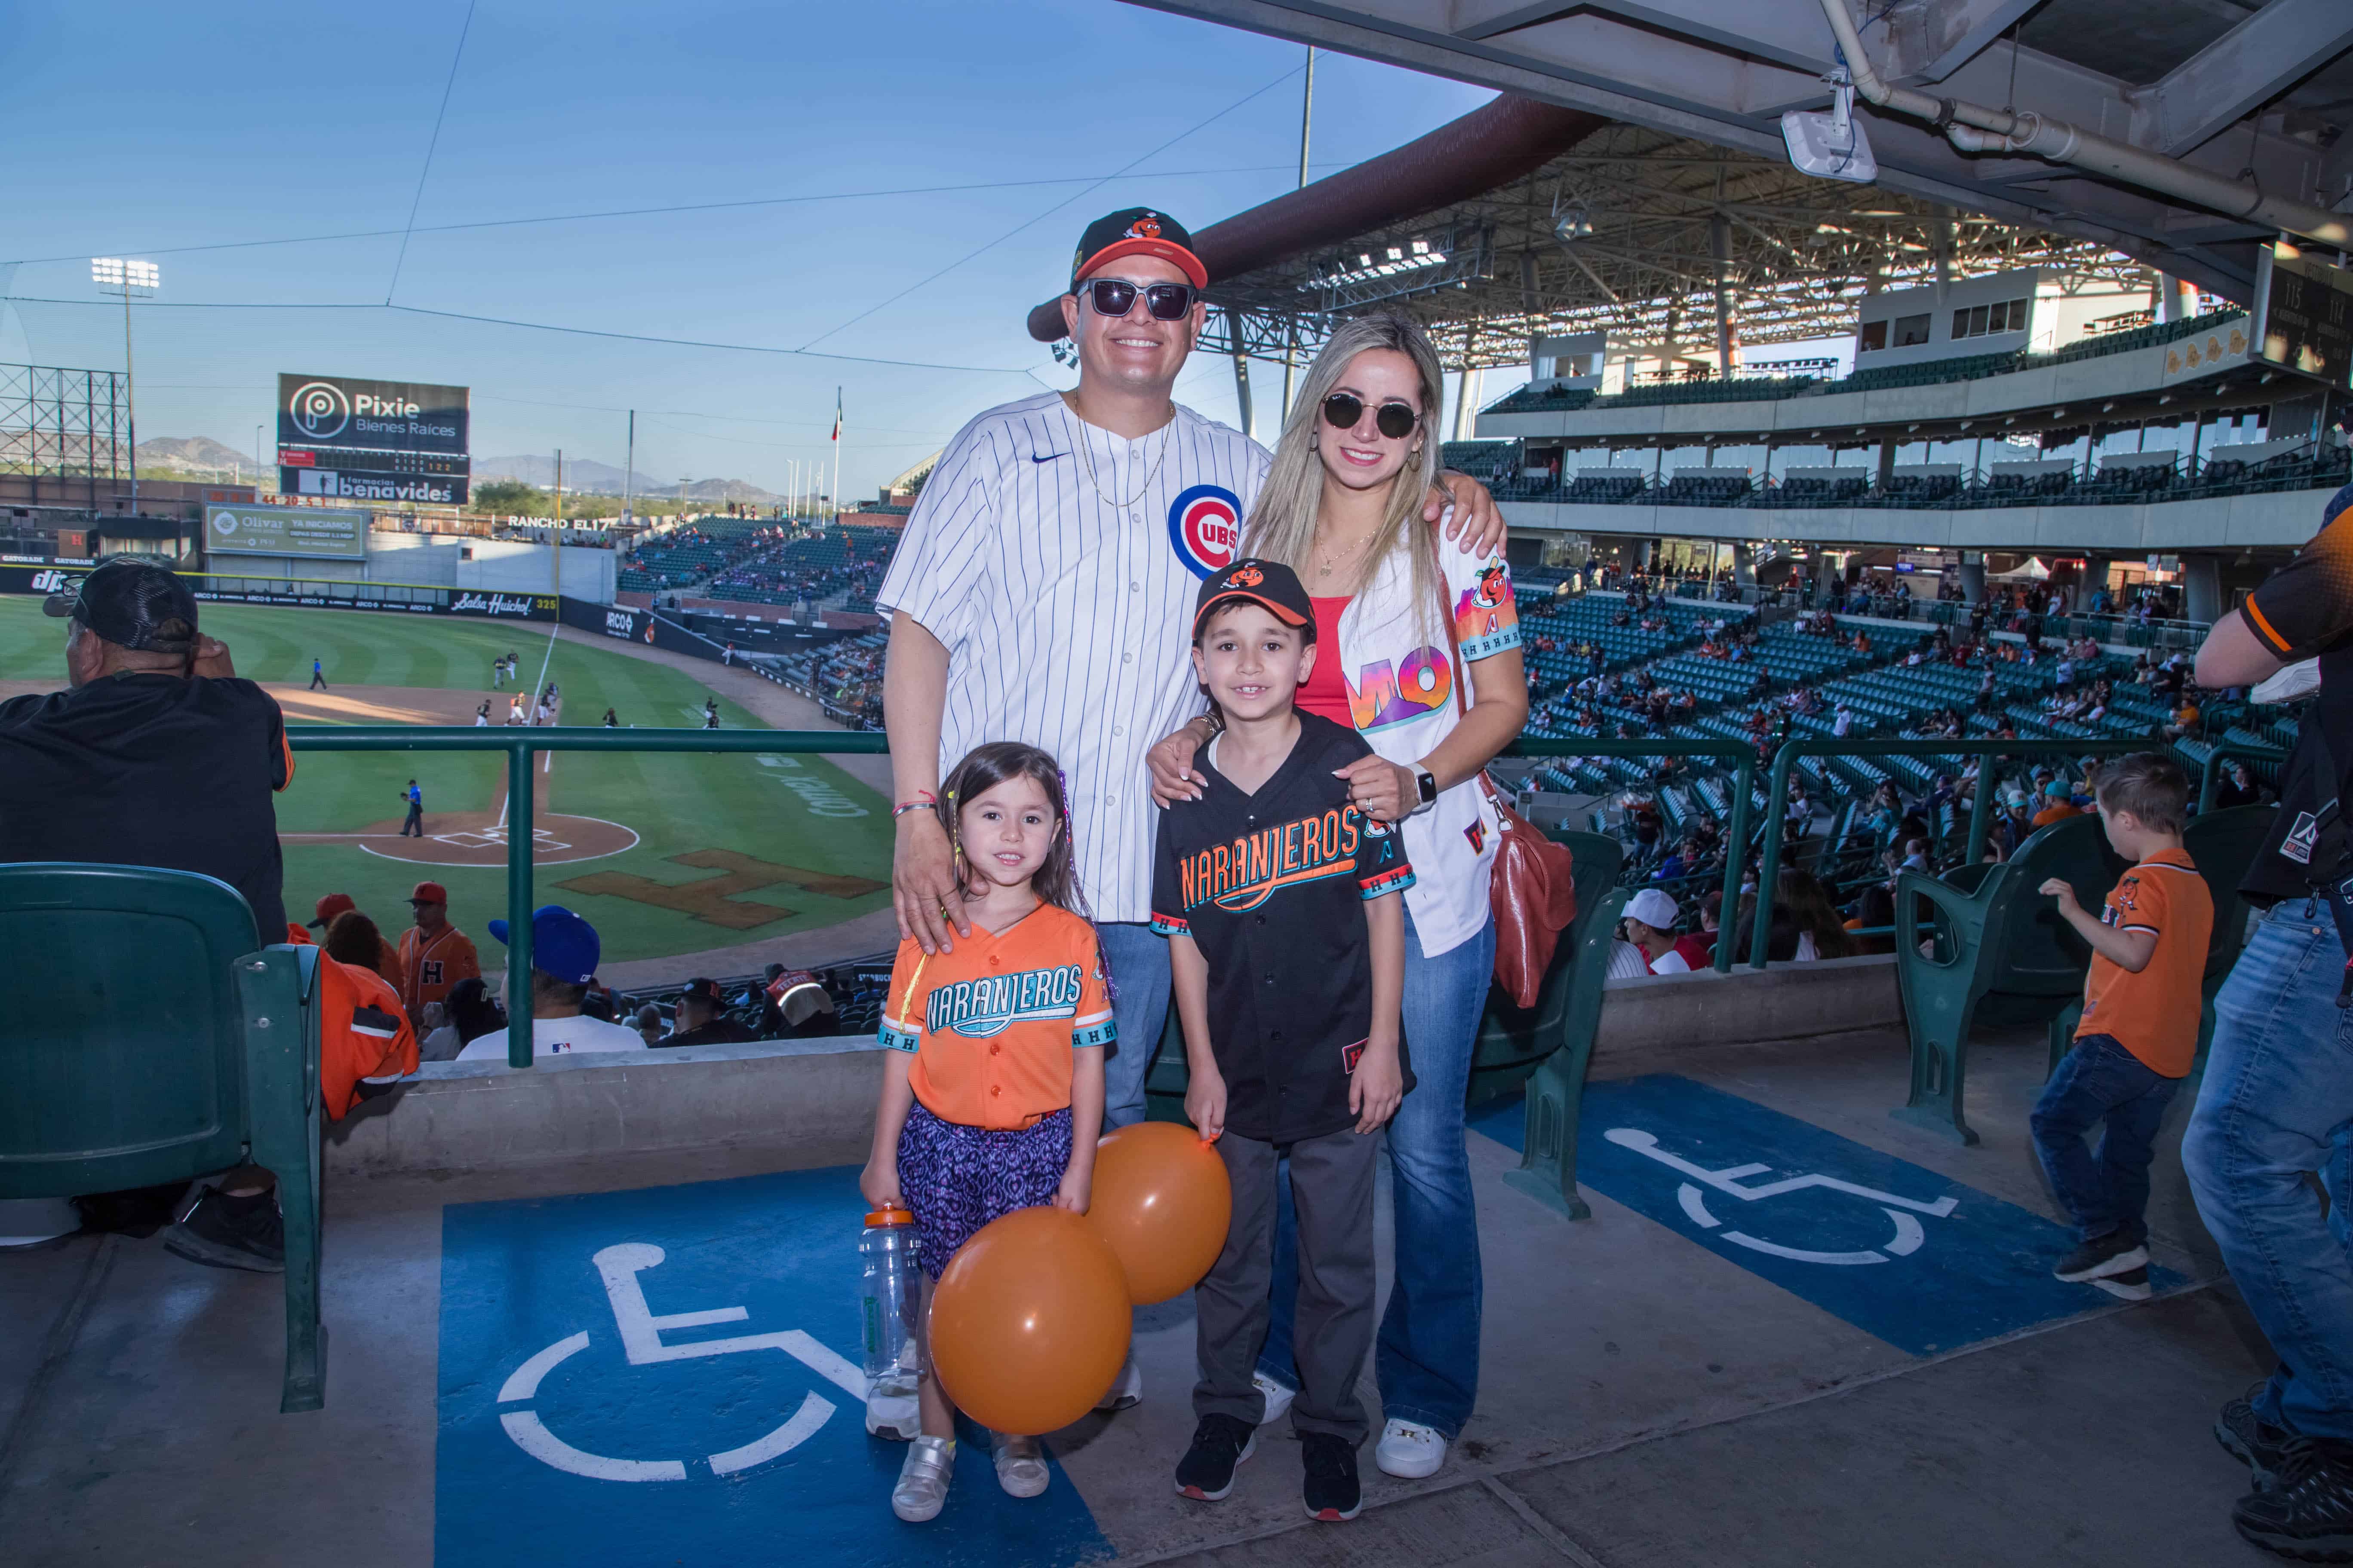
[[(2214, 997), (2214, 1046), (2181, 1140), (2198, 1213), (2280, 1371), (2254, 1413), (2353, 1441), (2353, 1013), (2329, 912), (2261, 914)], [(2327, 1190), (2327, 1218), (2318, 1175)]]

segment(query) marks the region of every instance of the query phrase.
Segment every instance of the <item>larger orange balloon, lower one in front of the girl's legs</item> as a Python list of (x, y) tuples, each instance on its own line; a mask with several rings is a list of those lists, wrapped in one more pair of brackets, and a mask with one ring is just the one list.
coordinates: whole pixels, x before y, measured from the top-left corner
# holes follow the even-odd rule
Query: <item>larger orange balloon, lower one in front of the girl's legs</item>
[(958, 1248), (932, 1293), (932, 1373), (958, 1410), (1016, 1436), (1094, 1408), (1127, 1359), (1127, 1276), (1068, 1208), (1016, 1208)]

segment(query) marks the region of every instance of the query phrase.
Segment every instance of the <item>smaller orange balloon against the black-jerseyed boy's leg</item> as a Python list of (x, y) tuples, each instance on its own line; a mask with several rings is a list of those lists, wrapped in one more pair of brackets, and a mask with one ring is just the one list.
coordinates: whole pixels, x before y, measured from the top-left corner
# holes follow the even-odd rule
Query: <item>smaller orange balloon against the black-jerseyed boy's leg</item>
[(1096, 1145), (1087, 1225), (1120, 1255), (1134, 1305), (1198, 1286), (1226, 1248), (1231, 1222), (1226, 1161), (1193, 1128), (1139, 1121)]

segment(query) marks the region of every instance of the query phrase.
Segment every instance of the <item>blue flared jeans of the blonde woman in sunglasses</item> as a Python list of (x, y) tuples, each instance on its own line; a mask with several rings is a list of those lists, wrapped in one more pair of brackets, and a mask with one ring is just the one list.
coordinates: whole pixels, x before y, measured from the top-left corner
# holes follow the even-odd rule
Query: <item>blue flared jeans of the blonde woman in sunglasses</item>
[[(1405, 917), (1405, 1058), (1414, 1091), (1388, 1124), (1395, 1276), (1372, 1363), (1381, 1413), (1435, 1427), (1452, 1443), (1478, 1403), (1478, 1211), (1464, 1145), (1471, 1051), (1494, 980), (1494, 922), (1466, 943), (1424, 957)], [(1273, 1314), (1259, 1371), (1299, 1387), (1292, 1307), (1299, 1295), (1299, 1220), (1289, 1182), (1275, 1182)]]

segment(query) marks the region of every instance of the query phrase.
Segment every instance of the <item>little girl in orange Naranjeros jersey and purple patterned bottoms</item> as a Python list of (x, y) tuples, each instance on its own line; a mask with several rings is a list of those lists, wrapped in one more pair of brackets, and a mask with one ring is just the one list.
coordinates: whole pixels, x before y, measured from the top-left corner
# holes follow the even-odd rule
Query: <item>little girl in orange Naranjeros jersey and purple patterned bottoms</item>
[[(915, 1213), (918, 1260), (936, 1286), (955, 1248), (998, 1215), (1040, 1204), (1087, 1213), (1113, 1025), (1054, 759), (995, 741), (955, 764), (936, 804), (901, 809), (939, 811), (948, 827), (972, 936), (932, 954), (899, 943), (859, 1192)], [(955, 1406), (929, 1366), (920, 1396), (922, 1436), (889, 1495), (908, 1523), (939, 1514), (955, 1469)], [(995, 1467), (1014, 1497), (1047, 1486), (1033, 1436), (998, 1436)]]

